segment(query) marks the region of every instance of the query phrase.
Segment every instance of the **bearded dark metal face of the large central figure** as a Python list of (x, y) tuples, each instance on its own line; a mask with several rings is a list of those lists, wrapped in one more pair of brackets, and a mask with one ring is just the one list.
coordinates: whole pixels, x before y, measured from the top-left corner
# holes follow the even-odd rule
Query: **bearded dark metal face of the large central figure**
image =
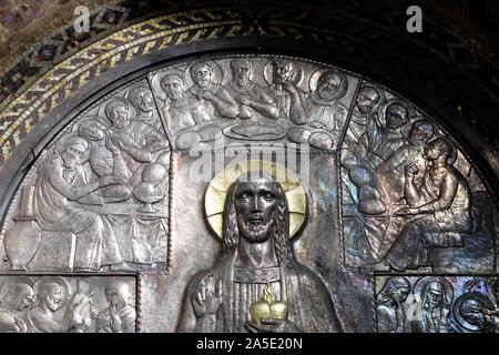
[(249, 243), (263, 243), (272, 236), (279, 191), (264, 180), (240, 183), (235, 191), (237, 227)]

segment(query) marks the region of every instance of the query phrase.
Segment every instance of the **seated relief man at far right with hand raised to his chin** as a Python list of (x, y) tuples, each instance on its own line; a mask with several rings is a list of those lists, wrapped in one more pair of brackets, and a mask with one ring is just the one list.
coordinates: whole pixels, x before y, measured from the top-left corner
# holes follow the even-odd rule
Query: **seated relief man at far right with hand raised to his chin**
[(452, 165), (454, 145), (445, 138), (427, 143), (428, 161), (421, 183), (416, 164), (406, 168), (404, 194), (407, 206), (397, 215), (416, 215), (409, 221), (385, 256), (385, 264), (397, 271), (432, 266), (429, 250), (462, 246), (462, 234), (470, 233), (471, 192), (466, 179)]

